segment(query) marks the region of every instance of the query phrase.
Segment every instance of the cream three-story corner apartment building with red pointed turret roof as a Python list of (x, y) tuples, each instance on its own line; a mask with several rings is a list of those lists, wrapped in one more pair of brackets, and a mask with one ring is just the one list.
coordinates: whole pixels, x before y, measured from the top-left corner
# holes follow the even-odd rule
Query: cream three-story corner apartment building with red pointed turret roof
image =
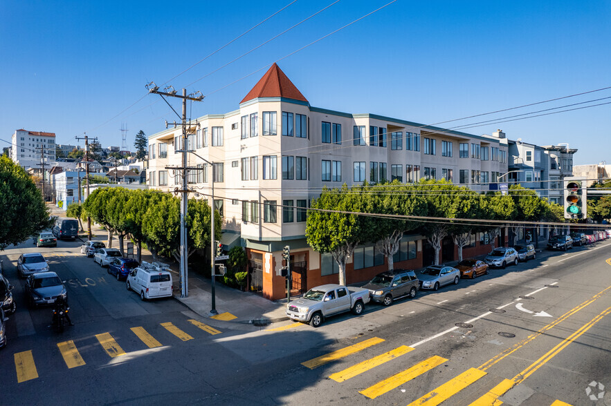
[[(172, 191), (181, 184), (180, 126), (149, 137), (150, 188)], [(282, 247), (291, 247), (293, 278), (299, 269), (301, 290), (337, 281), (329, 254), (306, 242), (307, 206), (323, 186), (336, 188), (381, 180), (416, 182), (446, 178), (474, 189), (507, 172), (507, 139), (502, 132), (477, 136), (373, 114), (316, 108), (284, 72), (273, 65), (239, 109), (205, 115), (190, 123), (186, 149), (190, 189), (208, 198), (215, 186), (215, 207), (223, 216), (226, 247), (241, 244), (250, 260), (250, 287), (271, 299), (286, 296)], [(190, 198), (196, 193), (190, 193)], [(417, 235), (405, 238), (405, 255), (396, 267), (428, 262)], [(403, 248), (402, 248), (403, 250)], [(453, 255), (454, 249), (450, 247)], [(401, 251), (403, 252), (403, 251)], [(450, 255), (450, 254), (448, 254)], [(359, 247), (347, 268), (347, 282), (371, 278), (387, 269), (373, 245)], [(405, 261), (405, 262), (403, 262)], [(356, 263), (358, 262), (358, 263)], [(295, 288), (295, 285), (293, 285)]]

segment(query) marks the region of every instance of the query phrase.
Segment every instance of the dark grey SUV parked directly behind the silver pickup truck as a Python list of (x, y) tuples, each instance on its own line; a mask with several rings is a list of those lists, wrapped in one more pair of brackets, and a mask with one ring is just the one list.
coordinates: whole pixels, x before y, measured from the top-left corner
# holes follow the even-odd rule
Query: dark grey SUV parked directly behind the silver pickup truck
[(414, 298), (420, 289), (420, 281), (414, 271), (394, 269), (379, 273), (363, 288), (369, 290), (371, 300), (390, 306), (395, 299)]

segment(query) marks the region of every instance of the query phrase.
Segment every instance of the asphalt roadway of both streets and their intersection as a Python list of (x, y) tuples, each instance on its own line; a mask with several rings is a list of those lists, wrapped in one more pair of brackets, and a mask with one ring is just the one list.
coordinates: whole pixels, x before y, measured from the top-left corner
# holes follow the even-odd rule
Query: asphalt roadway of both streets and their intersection
[[(0, 254), (18, 306), (0, 351), (2, 405), (611, 405), (599, 389), (611, 385), (610, 240), (318, 329), (262, 330), (142, 302), (79, 247)], [(51, 309), (25, 306), (15, 263), (27, 251), (66, 280), (75, 326), (64, 334), (48, 327)]]

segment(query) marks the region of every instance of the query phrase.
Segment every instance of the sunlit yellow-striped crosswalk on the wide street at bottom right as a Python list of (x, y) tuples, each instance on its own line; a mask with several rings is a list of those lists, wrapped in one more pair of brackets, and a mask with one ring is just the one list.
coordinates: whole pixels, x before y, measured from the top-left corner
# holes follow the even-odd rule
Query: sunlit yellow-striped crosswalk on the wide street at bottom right
[[(385, 340), (383, 340), (382, 338), (377, 337), (368, 338), (367, 340), (357, 342), (354, 345), (349, 345), (348, 347), (332, 351), (329, 354), (324, 354), (311, 360), (307, 360), (302, 363), (302, 365), (309, 369), (316, 369), (321, 365), (329, 364), (337, 360), (346, 359), (351, 356), (358, 356), (359, 354), (362, 354), (361, 351), (363, 351), (364, 349), (376, 349), (378, 347), (375, 346), (381, 344), (384, 341)], [(413, 347), (401, 345), (399, 347), (391, 349), (390, 351), (385, 351), (382, 354), (372, 356), (370, 358), (367, 358), (366, 360), (362, 360), (361, 362), (347, 367), (341, 371), (334, 372), (329, 375), (329, 379), (334, 380), (338, 383), (343, 383), (351, 378), (360, 376), (361, 374), (365, 374), (367, 371), (370, 371), (375, 367), (379, 367), (380, 365), (383, 365), (391, 360), (394, 360), (399, 357), (405, 357), (405, 354), (408, 353), (410, 355), (413, 355), (415, 358), (413, 365), (411, 365), (407, 369), (403, 369), (402, 371), (397, 372), (392, 376), (389, 376), (388, 378), (374, 383), (370, 387), (360, 390), (358, 393), (362, 394), (366, 398), (378, 398), (379, 396), (383, 396), (384, 394), (391, 392), (393, 389), (401, 387), (401, 385), (408, 384), (411, 380), (414, 380), (419, 376), (423, 376), (427, 373), (430, 373), (436, 367), (439, 367), (439, 365), (443, 365), (444, 363), (448, 362), (447, 358), (443, 358), (441, 356), (430, 356), (429, 358), (422, 360), (421, 357), (417, 356), (418, 351), (414, 351)], [(404, 365), (404, 363), (402, 363), (401, 365)], [(409, 403), (408, 406), (439, 405), (441, 403), (446, 402), (446, 400), (452, 398), (452, 396), (455, 396), (466, 387), (469, 387), (481, 378), (484, 378), (484, 376), (486, 375), (487, 372), (480, 368), (467, 368), (461, 374), (458, 374), (447, 382), (442, 383), (435, 389), (432, 389), (432, 391), (428, 392), (427, 394), (423, 394), (421, 397), (413, 400), (411, 403)], [(494, 385), (494, 383), (492, 385)], [(498, 398), (502, 396), (502, 394), (505, 394), (507, 391), (509, 391), (509, 389), (511, 389), (515, 385), (517, 385), (516, 380), (504, 379), (497, 385), (493, 386), (491, 389), (483, 388), (481, 389), (483, 393), (480, 394), (483, 396), (477, 398), (477, 400), (471, 403), (471, 405), (500, 405), (502, 402)], [(551, 405), (559, 406), (569, 404), (564, 403), (561, 400), (556, 400), (554, 403), (551, 403)]]

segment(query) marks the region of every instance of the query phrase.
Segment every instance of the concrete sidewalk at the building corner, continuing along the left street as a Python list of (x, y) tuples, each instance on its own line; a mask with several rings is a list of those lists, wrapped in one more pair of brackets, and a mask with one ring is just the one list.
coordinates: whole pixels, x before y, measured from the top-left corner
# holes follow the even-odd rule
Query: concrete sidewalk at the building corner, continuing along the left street
[[(51, 214), (65, 217), (66, 212), (48, 204)], [(83, 224), (86, 228), (86, 224)], [(108, 233), (98, 224), (91, 224), (91, 233), (96, 241), (107, 242)], [(79, 233), (82, 241), (87, 240), (86, 230)], [(118, 239), (113, 237), (113, 247), (118, 248)], [(134, 247), (134, 255), (136, 247)], [(150, 251), (142, 250), (142, 260), (153, 262)], [(215, 283), (215, 307), (218, 315), (211, 315), (212, 309), (212, 281), (204, 278), (199, 273), (189, 270), (188, 275), (188, 297), (181, 298), (181, 287), (179, 286), (179, 264), (168, 258), (160, 258), (161, 262), (170, 265), (174, 280), (174, 299), (183, 303), (186, 307), (199, 314), (203, 318), (214, 318), (231, 322), (241, 322), (257, 325), (258, 327), (268, 325), (273, 322), (289, 320), (286, 317), (286, 299), (272, 302), (255, 293), (242, 292), (237, 289), (227, 287), (219, 282)]]

